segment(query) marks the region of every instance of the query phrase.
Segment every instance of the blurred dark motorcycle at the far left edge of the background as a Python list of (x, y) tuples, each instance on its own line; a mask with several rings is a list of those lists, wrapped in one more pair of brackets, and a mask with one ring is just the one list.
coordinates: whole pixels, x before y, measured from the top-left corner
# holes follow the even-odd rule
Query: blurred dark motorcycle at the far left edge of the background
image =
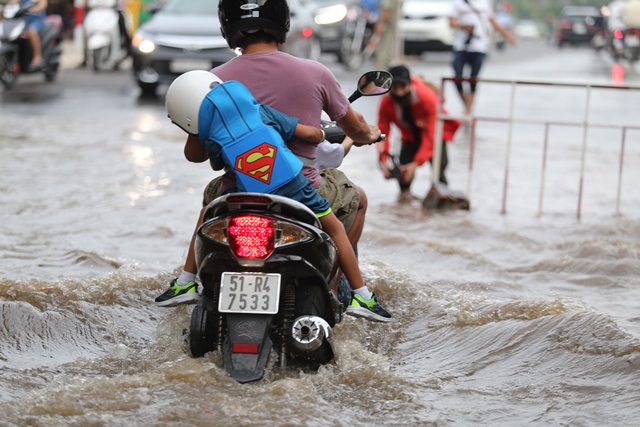
[(24, 15), (34, 3), (8, 4), (0, 21), (0, 81), (6, 89), (15, 86), (19, 74), (44, 73), (48, 82), (55, 80), (62, 54), (62, 18), (60, 15), (45, 17), (40, 32), (43, 65), (37, 70), (29, 70), (33, 49), (27, 39)]

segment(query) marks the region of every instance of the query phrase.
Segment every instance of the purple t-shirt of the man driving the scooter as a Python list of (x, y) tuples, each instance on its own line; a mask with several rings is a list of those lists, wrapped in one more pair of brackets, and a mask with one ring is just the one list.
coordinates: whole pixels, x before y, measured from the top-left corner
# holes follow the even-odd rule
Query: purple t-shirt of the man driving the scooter
[[(297, 117), (300, 124), (319, 126), (322, 111), (331, 120), (340, 120), (350, 107), (340, 84), (327, 67), (284, 52), (241, 55), (211, 72), (223, 81), (239, 81), (260, 104)], [(294, 137), (287, 145), (298, 156), (316, 158), (313, 144)], [(322, 178), (313, 165), (305, 164), (302, 172), (313, 187), (320, 185)]]

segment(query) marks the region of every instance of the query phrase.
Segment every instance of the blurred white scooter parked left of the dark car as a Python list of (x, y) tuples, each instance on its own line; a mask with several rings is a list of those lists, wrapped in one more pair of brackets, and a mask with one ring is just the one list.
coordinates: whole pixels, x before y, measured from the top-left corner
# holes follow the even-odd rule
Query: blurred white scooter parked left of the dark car
[(129, 56), (129, 39), (123, 33), (131, 27), (130, 19), (116, 5), (117, 0), (89, 0), (84, 30), (87, 56), (96, 72), (116, 70)]

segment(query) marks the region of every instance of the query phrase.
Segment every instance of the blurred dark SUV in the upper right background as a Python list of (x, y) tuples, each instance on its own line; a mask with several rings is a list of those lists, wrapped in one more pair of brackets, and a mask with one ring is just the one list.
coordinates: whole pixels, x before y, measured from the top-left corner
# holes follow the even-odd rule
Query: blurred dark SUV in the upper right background
[(566, 43), (591, 42), (601, 20), (598, 9), (591, 6), (565, 6), (555, 25), (555, 41), (559, 47)]

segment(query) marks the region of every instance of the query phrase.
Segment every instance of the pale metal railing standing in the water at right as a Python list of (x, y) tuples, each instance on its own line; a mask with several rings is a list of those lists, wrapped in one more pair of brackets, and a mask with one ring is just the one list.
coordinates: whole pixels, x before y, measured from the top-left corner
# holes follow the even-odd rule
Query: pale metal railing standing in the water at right
[[(590, 102), (591, 102), (591, 92), (593, 89), (605, 89), (605, 90), (628, 90), (628, 91), (640, 91), (640, 86), (613, 86), (613, 85), (602, 85), (602, 84), (579, 84), (579, 83), (554, 83), (554, 82), (536, 82), (536, 81), (526, 81), (526, 80), (500, 80), (500, 79), (480, 79), (480, 78), (456, 78), (456, 77), (444, 77), (440, 83), (440, 102), (438, 106), (438, 121), (436, 125), (436, 134), (435, 134), (435, 146), (433, 153), (433, 175), (432, 180), (433, 183), (437, 183), (438, 177), (440, 176), (440, 160), (442, 153), (442, 133), (444, 128), (444, 120), (446, 119), (458, 119), (464, 120), (460, 117), (450, 116), (443, 113), (443, 100), (444, 100), (444, 85), (446, 82), (478, 82), (478, 83), (497, 83), (497, 84), (505, 84), (511, 86), (511, 96), (509, 103), (509, 114), (507, 117), (482, 117), (482, 116), (472, 116), (471, 118), (466, 118), (471, 121), (471, 134), (470, 134), (470, 153), (469, 153), (469, 175), (467, 182), (467, 197), (470, 197), (471, 194), (471, 176), (473, 172), (473, 160), (474, 160), (474, 149), (476, 142), (476, 123), (478, 121), (487, 121), (487, 122), (503, 122), (508, 123), (508, 136), (507, 136), (507, 150), (506, 150), (506, 159), (505, 159), (505, 170), (504, 170), (504, 181), (502, 188), (502, 206), (501, 206), (501, 214), (506, 214), (507, 212), (507, 193), (508, 193), (508, 184), (509, 184), (509, 172), (510, 172), (510, 163), (511, 163), (511, 148), (513, 145), (513, 125), (514, 123), (518, 124), (538, 124), (543, 125), (545, 132), (544, 139), (544, 147), (542, 153), (542, 179), (540, 182), (540, 191), (539, 191), (539, 199), (538, 199), (538, 216), (542, 215), (542, 200), (544, 196), (545, 190), (545, 175), (546, 175), (546, 167), (547, 167), (547, 150), (549, 144), (549, 129), (551, 126), (576, 126), (581, 127), (583, 129), (582, 135), (582, 152), (581, 152), (581, 160), (580, 160), (580, 182), (578, 188), (578, 206), (576, 211), (576, 216), (580, 219), (582, 215), (582, 197), (584, 191), (584, 174), (585, 174), (585, 162), (586, 162), (586, 154), (587, 154), (587, 140), (588, 140), (588, 130), (590, 128), (609, 128), (609, 129), (621, 129), (622, 130), (622, 139), (621, 139), (621, 147), (620, 147), (620, 160), (619, 160), (619, 168), (618, 168), (618, 185), (617, 185), (617, 194), (616, 194), (616, 214), (620, 214), (620, 200), (622, 194), (622, 173), (623, 173), (623, 164), (624, 164), (624, 151), (625, 144), (627, 138), (628, 130), (640, 130), (640, 125), (610, 125), (604, 123), (592, 123), (589, 121), (589, 111), (590, 111)], [(558, 86), (558, 87), (572, 87), (572, 88), (584, 88), (587, 91), (586, 94), (586, 102), (584, 108), (584, 119), (582, 121), (561, 121), (561, 120), (531, 120), (531, 119), (515, 119), (514, 111), (515, 111), (515, 99), (516, 99), (516, 88), (518, 86)]]

